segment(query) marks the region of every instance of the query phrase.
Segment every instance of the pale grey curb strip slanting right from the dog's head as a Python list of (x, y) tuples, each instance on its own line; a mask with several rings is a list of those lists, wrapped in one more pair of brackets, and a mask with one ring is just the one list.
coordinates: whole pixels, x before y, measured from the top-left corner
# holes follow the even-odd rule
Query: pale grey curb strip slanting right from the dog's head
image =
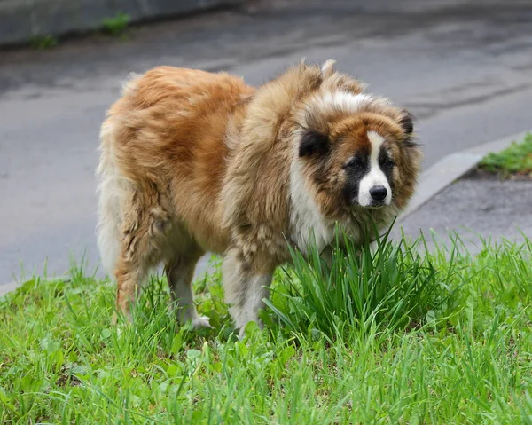
[(434, 198), (434, 196), (448, 185), (452, 184), (458, 178), (465, 175), (475, 167), (481, 159), (491, 152), (500, 152), (506, 147), (510, 146), (513, 141), (520, 141), (527, 133), (532, 133), (532, 130), (523, 131), (521, 133), (513, 134), (505, 138), (484, 143), (482, 145), (470, 147), (457, 153), (450, 153), (444, 156), (440, 161), (433, 166), (426, 169), (419, 177), (419, 185), (416, 194), (412, 198), (407, 209), (399, 216), (399, 220), (410, 216), (411, 213), (422, 207), (427, 201)]

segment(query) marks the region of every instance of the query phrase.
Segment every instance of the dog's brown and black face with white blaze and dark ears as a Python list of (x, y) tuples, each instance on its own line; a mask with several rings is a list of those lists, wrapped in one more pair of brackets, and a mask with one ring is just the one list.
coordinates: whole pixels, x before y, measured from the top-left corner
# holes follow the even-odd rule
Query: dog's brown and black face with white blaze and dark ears
[(410, 114), (363, 112), (321, 127), (303, 132), (299, 157), (325, 214), (337, 215), (340, 206), (403, 208), (420, 160)]

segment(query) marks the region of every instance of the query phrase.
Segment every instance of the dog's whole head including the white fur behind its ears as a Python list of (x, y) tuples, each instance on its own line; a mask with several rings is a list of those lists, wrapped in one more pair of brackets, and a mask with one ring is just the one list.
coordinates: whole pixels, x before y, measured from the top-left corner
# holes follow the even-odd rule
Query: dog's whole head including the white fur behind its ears
[(411, 114), (387, 99), (334, 86), (303, 110), (297, 161), (325, 216), (404, 208), (421, 160)]

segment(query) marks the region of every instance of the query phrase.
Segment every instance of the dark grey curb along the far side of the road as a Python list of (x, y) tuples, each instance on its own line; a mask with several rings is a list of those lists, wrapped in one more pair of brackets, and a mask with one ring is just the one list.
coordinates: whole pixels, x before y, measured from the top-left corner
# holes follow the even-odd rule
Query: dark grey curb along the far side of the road
[(44, 35), (82, 33), (103, 27), (117, 13), (129, 22), (153, 20), (244, 4), (246, 0), (0, 0), (0, 45)]

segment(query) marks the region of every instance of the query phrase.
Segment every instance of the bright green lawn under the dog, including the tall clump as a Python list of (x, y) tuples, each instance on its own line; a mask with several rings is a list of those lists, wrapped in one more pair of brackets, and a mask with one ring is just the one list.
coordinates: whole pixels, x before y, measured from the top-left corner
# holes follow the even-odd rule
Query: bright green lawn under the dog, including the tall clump
[(530, 240), (293, 256), (243, 341), (219, 269), (195, 284), (200, 333), (161, 279), (121, 332), (108, 282), (26, 282), (0, 302), (0, 423), (532, 422)]

